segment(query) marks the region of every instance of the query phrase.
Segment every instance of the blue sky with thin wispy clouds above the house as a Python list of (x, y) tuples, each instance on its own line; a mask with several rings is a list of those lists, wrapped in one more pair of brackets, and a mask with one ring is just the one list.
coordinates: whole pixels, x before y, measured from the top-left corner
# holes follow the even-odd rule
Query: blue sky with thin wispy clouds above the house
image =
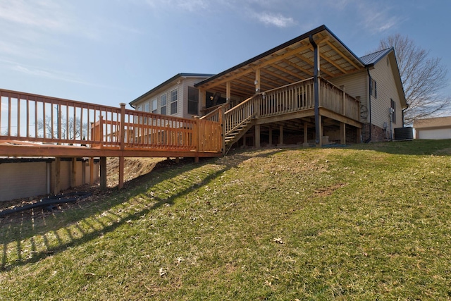
[(448, 0), (0, 0), (0, 88), (118, 106), (323, 24), (357, 56), (407, 35), (450, 74), (450, 12)]

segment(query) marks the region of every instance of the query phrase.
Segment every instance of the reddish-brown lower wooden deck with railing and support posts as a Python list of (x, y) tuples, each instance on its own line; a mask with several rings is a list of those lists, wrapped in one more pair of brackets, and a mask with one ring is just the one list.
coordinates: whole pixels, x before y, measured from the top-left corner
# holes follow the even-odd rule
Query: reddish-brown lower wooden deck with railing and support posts
[(0, 90), (0, 125), (0, 156), (119, 157), (119, 188), (124, 157), (198, 160), (223, 153), (221, 121), (128, 110), (125, 104), (115, 108)]

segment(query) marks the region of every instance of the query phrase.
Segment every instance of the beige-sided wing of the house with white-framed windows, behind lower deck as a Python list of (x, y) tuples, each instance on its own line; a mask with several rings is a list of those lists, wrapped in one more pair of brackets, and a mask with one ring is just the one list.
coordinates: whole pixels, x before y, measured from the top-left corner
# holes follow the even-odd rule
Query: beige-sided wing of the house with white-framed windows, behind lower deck
[(179, 73), (130, 102), (137, 111), (175, 117), (199, 115), (201, 102), (194, 84), (213, 74)]

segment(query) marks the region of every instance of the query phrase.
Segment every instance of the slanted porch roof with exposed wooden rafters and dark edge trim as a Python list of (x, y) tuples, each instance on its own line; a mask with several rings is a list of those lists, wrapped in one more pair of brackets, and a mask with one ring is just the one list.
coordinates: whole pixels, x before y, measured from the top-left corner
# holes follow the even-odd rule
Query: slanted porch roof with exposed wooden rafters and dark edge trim
[(314, 74), (314, 48), (309, 37), (312, 37), (319, 47), (320, 74), (323, 78), (335, 78), (365, 68), (359, 57), (326, 25), (321, 25), (195, 86), (202, 90), (226, 93), (226, 83), (230, 82), (232, 95), (249, 97), (255, 94), (256, 70), (260, 70), (261, 91), (311, 78)]

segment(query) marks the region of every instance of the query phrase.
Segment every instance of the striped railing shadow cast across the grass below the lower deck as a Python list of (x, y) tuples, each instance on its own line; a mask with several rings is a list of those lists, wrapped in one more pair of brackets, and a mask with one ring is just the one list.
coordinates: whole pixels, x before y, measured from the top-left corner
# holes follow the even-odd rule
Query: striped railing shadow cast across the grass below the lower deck
[[(278, 152), (283, 152), (283, 149), (268, 149), (257, 156), (271, 156)], [(175, 198), (183, 197), (206, 185), (251, 157), (255, 156), (241, 152), (218, 159), (202, 159), (199, 164), (185, 159), (178, 165), (163, 168), (156, 166), (151, 173), (130, 180), (121, 191), (117, 188), (109, 189), (100, 195), (95, 205), (84, 200), (78, 208), (67, 209), (65, 214), (56, 213), (51, 217), (51, 223), (58, 226), (49, 226), (49, 221), (37, 223), (39, 214), (30, 215), (28, 219), (22, 217), (20, 221), (10, 223), (3, 221), (0, 225), (0, 238), (3, 240), (0, 269), (8, 271), (16, 266), (39, 262), (65, 251), (68, 247), (82, 245), (112, 232), (124, 223), (141, 219), (143, 215), (164, 204), (173, 204)], [(118, 206), (123, 207), (121, 210), (113, 210)], [(66, 238), (61, 238), (61, 233), (64, 233)], [(14, 247), (13, 242), (16, 242)], [(14, 250), (11, 250), (12, 248)], [(28, 250), (25, 252), (25, 249)]]

